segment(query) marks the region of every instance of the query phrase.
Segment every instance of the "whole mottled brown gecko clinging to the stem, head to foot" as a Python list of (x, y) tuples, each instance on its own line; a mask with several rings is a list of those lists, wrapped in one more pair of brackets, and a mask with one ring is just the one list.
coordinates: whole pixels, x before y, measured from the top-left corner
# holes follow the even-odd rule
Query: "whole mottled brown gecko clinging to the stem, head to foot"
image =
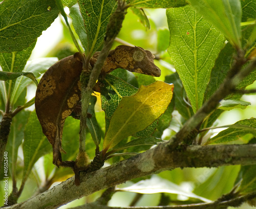
[[(90, 60), (94, 66), (100, 52), (96, 52)], [(108, 74), (116, 68), (159, 77), (160, 69), (154, 64), (155, 56), (140, 47), (119, 45), (111, 50), (101, 69)], [(79, 53), (63, 58), (52, 65), (41, 78), (35, 96), (35, 109), (42, 132), (53, 147), (53, 164), (56, 166), (74, 167), (74, 161), (62, 161), (61, 148), (62, 129), (66, 118), (77, 110), (81, 100), (80, 74), (82, 61)]]

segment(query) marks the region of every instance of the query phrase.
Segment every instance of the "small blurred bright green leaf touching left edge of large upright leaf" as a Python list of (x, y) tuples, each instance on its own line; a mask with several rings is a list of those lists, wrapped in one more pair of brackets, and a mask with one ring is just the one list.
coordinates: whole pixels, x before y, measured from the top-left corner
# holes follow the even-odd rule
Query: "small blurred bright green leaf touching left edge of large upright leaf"
[(169, 47), (170, 32), (168, 28), (162, 27), (157, 30), (157, 51), (163, 52)]

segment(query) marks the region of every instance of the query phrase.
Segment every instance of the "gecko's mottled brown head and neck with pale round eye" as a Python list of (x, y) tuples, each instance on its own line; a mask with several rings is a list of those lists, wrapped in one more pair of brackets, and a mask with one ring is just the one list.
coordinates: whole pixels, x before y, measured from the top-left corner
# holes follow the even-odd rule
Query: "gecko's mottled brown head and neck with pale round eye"
[[(92, 66), (97, 61), (100, 52), (96, 52), (90, 60)], [(106, 58), (102, 71), (110, 73), (116, 68), (127, 69), (127, 71), (159, 77), (161, 70), (154, 64), (155, 56), (141, 47), (129, 47), (119, 45), (111, 50)]]

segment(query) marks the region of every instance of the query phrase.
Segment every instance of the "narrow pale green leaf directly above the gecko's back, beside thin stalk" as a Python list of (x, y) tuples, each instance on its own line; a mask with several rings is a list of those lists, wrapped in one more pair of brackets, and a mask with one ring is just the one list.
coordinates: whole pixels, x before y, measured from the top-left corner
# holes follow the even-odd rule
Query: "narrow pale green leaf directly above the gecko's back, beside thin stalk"
[(72, 24), (79, 37), (79, 40), (81, 41), (83, 49), (87, 50), (88, 37), (86, 33), (86, 27), (84, 26), (83, 18), (80, 13), (78, 4), (70, 8), (69, 15), (72, 17)]

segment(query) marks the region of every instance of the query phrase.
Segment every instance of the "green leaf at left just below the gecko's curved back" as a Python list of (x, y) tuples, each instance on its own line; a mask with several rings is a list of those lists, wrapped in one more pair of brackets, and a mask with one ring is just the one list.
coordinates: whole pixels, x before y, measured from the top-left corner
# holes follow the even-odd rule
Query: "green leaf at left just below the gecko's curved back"
[(25, 182), (39, 157), (52, 151), (52, 146), (42, 133), (41, 125), (35, 111), (30, 113), (28, 123), (24, 131), (23, 155), (24, 170), (23, 182)]

